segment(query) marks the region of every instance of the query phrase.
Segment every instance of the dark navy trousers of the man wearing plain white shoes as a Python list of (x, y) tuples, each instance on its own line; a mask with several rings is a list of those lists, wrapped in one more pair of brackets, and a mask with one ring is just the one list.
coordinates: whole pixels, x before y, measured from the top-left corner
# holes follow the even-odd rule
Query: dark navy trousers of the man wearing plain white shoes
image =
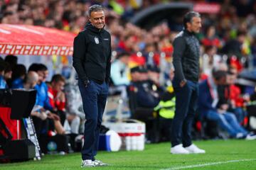
[(171, 146), (183, 144), (188, 147), (192, 144), (191, 128), (198, 103), (198, 83), (187, 81), (185, 86), (173, 81), (176, 94), (176, 111), (171, 127)]

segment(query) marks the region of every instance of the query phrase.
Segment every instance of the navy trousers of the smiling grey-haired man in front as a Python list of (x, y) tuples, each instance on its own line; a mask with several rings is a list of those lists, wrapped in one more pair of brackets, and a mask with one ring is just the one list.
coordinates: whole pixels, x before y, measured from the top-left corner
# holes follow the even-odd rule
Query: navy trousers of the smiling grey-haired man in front
[(86, 119), (82, 160), (92, 159), (94, 161), (99, 145), (100, 125), (107, 101), (108, 85), (105, 82), (97, 84), (95, 81), (90, 81), (90, 84), (85, 87), (79, 79), (78, 86)]

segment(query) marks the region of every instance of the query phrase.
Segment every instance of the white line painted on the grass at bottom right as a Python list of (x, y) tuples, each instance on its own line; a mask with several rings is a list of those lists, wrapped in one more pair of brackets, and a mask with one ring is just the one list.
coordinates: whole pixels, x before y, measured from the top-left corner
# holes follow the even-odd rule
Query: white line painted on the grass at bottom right
[(226, 162), (212, 162), (212, 163), (206, 163), (206, 164), (195, 164), (195, 165), (188, 165), (188, 166), (176, 166), (173, 168), (168, 169), (160, 169), (160, 170), (178, 170), (178, 169), (191, 169), (196, 167), (203, 167), (203, 166), (212, 166), (212, 165), (218, 165), (218, 164), (228, 164), (232, 162), (250, 162), (250, 161), (256, 161), (256, 159), (240, 159), (240, 160), (230, 160)]

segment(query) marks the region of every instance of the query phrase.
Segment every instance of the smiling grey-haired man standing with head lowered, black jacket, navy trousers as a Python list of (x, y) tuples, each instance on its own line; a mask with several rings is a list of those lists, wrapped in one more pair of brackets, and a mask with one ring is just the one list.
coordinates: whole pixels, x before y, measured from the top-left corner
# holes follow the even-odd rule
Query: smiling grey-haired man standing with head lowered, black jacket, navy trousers
[(85, 112), (82, 167), (103, 166), (97, 154), (102, 114), (110, 80), (111, 41), (104, 29), (105, 13), (102, 6), (89, 8), (90, 22), (74, 40), (73, 67), (78, 73), (78, 86)]

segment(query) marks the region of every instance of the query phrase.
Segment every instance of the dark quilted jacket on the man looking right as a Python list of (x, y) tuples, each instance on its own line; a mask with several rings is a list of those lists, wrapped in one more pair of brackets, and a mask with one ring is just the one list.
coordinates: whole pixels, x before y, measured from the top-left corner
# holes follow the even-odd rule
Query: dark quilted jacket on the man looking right
[(199, 41), (187, 30), (178, 33), (174, 39), (174, 78), (178, 81), (197, 82), (199, 78)]

